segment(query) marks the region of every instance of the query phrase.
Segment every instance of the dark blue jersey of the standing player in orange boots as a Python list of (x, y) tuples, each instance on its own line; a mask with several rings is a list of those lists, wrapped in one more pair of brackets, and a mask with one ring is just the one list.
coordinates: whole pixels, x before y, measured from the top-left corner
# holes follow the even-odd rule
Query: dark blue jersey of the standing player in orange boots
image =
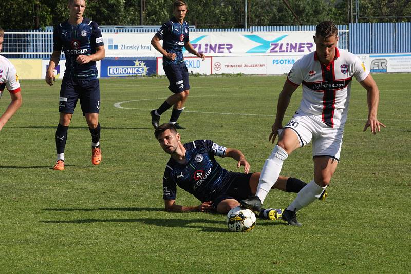
[(63, 49), (66, 55), (66, 71), (64, 77), (70, 79), (91, 79), (98, 77), (96, 61), (80, 65), (76, 62), (79, 55), (96, 53), (96, 47), (103, 46), (103, 37), (96, 22), (83, 18), (76, 26), (65, 21), (54, 28), (53, 50)]

